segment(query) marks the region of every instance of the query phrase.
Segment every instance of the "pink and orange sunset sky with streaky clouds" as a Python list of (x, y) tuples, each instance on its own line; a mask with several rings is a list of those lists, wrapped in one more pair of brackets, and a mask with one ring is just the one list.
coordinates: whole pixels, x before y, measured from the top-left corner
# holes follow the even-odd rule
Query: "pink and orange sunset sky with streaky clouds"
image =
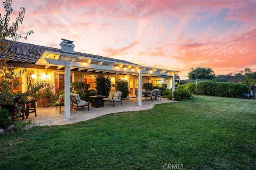
[(256, 71), (256, 0), (13, 0), (11, 22), (21, 6), (18, 33), (34, 34), (20, 42), (60, 48), (64, 38), (75, 51), (181, 71), (181, 79), (199, 66)]

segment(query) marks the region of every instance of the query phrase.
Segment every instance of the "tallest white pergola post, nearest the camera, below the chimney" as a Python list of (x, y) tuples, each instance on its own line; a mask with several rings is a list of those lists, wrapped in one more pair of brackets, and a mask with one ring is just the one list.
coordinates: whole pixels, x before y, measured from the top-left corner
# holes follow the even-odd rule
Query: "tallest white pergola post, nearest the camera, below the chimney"
[(65, 119), (70, 119), (70, 61), (66, 61), (65, 67)]

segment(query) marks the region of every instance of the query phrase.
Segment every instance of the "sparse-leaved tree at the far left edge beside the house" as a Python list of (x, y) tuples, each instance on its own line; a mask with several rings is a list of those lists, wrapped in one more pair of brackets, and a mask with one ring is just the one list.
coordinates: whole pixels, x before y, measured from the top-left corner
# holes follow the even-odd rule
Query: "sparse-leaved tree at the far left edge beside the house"
[(28, 35), (33, 34), (33, 31), (17, 34), (18, 24), (22, 24), (23, 17), (25, 14), (25, 8), (20, 7), (19, 16), (16, 18), (16, 22), (13, 22), (11, 26), (9, 26), (10, 15), (12, 14), (12, 0), (6, 0), (3, 2), (6, 14), (2, 18), (2, 14), (0, 14), (0, 54), (4, 54), (3, 59), (0, 59), (0, 93), (2, 97), (0, 99), (1, 103), (12, 104), (13, 98), (17, 95), (13, 92), (14, 89), (18, 89), (22, 82), (19, 82), (19, 78), (27, 71), (26, 68), (18, 71), (16, 73), (17, 67), (12, 67), (12, 65), (8, 65), (6, 61), (9, 60), (9, 56), (14, 56), (14, 54), (8, 54), (8, 47), (10, 43), (5, 39), (16, 41), (20, 38), (27, 39)]

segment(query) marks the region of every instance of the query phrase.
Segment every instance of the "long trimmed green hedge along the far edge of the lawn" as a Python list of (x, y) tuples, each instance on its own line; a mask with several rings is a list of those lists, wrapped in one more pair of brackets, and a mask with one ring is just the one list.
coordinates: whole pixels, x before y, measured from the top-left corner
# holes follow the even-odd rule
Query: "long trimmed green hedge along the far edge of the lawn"
[[(196, 94), (196, 82), (180, 85), (180, 87)], [(214, 81), (200, 81), (197, 83), (198, 95), (240, 98), (246, 92), (248, 92), (248, 87), (245, 84)]]

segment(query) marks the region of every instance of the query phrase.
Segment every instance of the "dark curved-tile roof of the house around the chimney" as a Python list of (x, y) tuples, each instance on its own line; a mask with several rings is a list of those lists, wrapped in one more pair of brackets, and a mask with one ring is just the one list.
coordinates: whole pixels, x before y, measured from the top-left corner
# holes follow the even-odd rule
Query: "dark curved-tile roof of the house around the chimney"
[[(10, 61), (20, 61), (23, 63), (36, 63), (36, 61), (41, 57), (42, 53), (44, 51), (54, 51), (58, 53), (66, 53), (61, 51), (58, 48), (52, 48), (52, 47), (45, 47), (42, 45), (34, 45), (30, 43), (23, 43), (23, 42), (12, 42), (10, 41), (11, 46), (8, 49), (9, 53), (14, 53), (14, 57), (10, 57)], [(87, 54), (87, 53), (81, 53), (81, 52), (74, 52), (74, 53), (66, 53), (66, 54), (73, 54), (73, 55), (79, 55), (83, 57), (91, 57), (95, 59), (102, 59), (102, 60), (109, 60), (109, 61), (114, 61), (114, 62), (120, 62), (120, 63), (127, 63), (127, 64), (133, 64), (136, 65), (135, 63), (131, 63), (129, 61), (124, 61), (120, 59), (114, 59), (110, 57), (103, 57), (99, 55), (92, 55), (92, 54)], [(0, 54), (0, 59), (6, 57), (5, 54), (1, 53)]]

